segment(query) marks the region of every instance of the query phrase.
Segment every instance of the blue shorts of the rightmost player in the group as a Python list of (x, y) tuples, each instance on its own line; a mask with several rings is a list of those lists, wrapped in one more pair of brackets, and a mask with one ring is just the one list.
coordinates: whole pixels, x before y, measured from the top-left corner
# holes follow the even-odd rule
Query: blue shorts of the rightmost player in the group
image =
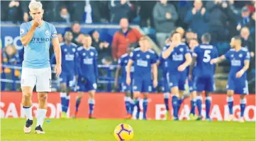
[(235, 94), (248, 94), (248, 82), (246, 78), (228, 78), (227, 90), (233, 90)]

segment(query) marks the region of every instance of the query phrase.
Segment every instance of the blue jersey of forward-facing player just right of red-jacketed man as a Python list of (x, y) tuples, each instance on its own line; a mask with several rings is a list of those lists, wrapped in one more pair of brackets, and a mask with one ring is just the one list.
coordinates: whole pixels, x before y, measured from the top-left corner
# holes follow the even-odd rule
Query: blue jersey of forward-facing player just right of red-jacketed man
[(133, 60), (133, 77), (145, 75), (151, 76), (151, 65), (157, 62), (157, 55), (155, 54), (155, 51), (152, 51), (151, 49), (143, 52), (140, 48), (137, 48), (130, 54), (130, 59)]

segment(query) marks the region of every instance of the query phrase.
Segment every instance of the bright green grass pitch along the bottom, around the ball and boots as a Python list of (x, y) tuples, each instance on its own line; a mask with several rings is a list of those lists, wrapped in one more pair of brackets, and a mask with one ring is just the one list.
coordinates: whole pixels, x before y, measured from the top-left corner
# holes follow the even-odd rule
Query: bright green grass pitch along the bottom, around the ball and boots
[(114, 141), (119, 123), (133, 127), (133, 141), (255, 141), (255, 123), (218, 121), (133, 121), (106, 119), (50, 119), (43, 125), (45, 135), (23, 133), (25, 119), (1, 119), (1, 141)]

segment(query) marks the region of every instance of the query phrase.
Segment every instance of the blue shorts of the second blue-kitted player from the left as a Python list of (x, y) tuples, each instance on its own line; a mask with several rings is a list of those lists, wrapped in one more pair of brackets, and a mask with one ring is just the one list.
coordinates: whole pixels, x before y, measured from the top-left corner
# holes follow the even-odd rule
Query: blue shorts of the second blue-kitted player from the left
[(78, 92), (89, 92), (96, 90), (96, 79), (79, 76), (77, 80), (77, 91)]

